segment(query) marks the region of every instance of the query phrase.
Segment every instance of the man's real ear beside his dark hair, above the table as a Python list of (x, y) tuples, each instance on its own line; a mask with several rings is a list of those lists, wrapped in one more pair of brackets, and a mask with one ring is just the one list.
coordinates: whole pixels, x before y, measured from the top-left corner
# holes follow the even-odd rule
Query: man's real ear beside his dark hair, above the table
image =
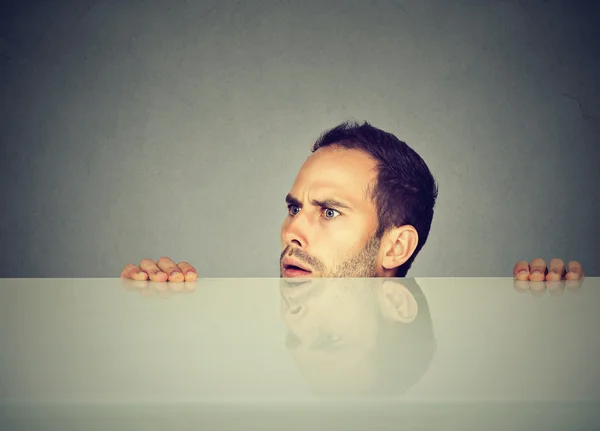
[(381, 239), (380, 259), (384, 271), (395, 273), (396, 268), (410, 259), (418, 244), (419, 234), (411, 225), (388, 230)]

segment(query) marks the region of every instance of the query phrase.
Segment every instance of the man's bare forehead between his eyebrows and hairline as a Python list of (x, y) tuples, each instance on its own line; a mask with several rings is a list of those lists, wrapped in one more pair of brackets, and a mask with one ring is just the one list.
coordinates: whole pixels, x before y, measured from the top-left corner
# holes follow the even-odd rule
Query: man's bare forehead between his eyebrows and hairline
[(375, 160), (367, 153), (339, 146), (321, 148), (300, 168), (294, 188), (339, 190), (366, 196), (377, 178)]

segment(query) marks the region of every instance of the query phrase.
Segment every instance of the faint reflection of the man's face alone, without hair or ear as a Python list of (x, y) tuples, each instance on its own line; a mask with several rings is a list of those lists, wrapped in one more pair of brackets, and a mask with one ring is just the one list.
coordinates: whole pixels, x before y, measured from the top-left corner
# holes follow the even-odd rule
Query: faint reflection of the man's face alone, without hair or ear
[(304, 377), (320, 391), (351, 391), (375, 379), (378, 331), (372, 289), (330, 281), (282, 288), (286, 347)]

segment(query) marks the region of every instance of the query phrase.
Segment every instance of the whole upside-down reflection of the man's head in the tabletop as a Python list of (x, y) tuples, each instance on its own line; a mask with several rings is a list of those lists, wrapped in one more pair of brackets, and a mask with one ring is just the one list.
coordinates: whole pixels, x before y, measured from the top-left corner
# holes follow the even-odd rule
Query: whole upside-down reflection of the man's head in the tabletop
[(351, 397), (387, 392), (390, 385), (404, 391), (428, 366), (428, 313), (406, 326), (419, 306), (404, 282), (283, 278), (280, 286), (286, 346), (314, 391)]

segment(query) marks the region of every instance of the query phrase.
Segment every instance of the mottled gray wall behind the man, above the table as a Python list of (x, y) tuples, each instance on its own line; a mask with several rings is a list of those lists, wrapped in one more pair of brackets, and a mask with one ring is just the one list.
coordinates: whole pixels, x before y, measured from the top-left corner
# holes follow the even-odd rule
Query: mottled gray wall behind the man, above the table
[(21, 1), (0, 18), (0, 276), (167, 255), (277, 276), (284, 196), (368, 120), (440, 185), (409, 276), (599, 274), (594, 2)]

